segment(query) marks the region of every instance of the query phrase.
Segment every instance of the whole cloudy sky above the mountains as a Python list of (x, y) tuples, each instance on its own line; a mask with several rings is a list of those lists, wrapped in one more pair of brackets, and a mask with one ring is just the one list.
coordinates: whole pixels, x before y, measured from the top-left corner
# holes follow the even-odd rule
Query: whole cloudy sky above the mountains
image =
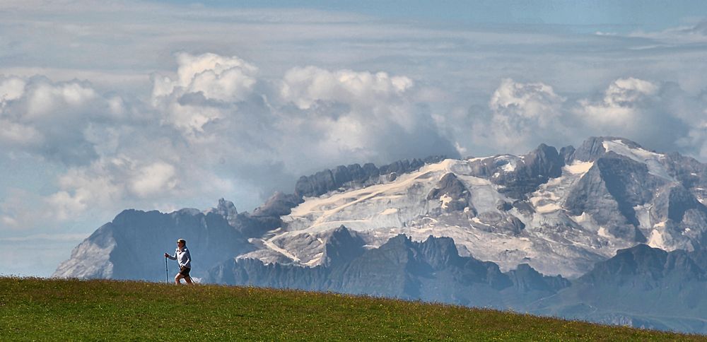
[(703, 1), (0, 2), (0, 275), (127, 208), (621, 136), (707, 161)]

